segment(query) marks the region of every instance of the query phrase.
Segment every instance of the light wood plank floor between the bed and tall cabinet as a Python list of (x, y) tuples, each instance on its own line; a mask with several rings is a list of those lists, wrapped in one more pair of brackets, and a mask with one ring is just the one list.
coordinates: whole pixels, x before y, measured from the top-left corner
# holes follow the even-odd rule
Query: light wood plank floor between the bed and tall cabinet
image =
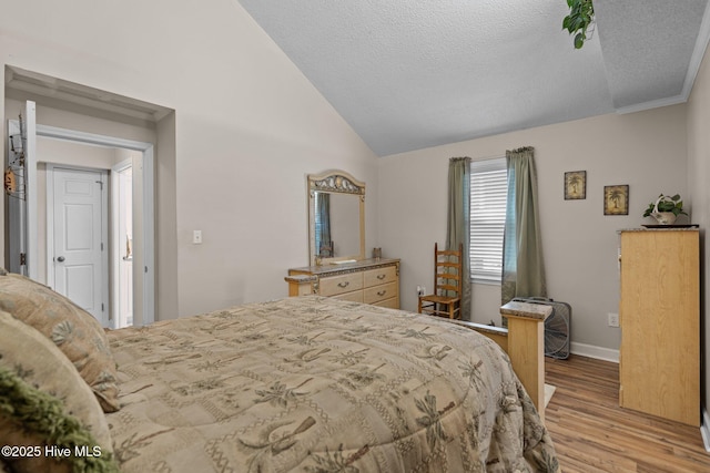
[(699, 428), (619, 408), (617, 363), (545, 359), (545, 411), (564, 473), (710, 472)]

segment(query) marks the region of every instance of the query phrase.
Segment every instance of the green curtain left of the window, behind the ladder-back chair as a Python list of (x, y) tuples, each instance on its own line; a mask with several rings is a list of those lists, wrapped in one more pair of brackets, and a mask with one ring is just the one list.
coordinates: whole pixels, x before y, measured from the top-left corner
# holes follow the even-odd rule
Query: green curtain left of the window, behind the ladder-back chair
[(452, 157), (448, 164), (448, 219), (446, 228), (447, 249), (464, 245), (464, 275), (462, 280), (462, 320), (470, 320), (469, 261), (469, 199), (470, 157)]

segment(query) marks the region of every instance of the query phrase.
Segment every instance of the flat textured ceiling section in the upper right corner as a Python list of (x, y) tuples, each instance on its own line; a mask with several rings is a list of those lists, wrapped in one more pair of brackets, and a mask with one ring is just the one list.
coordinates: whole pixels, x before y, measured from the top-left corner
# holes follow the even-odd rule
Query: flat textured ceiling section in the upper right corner
[(615, 109), (688, 99), (708, 43), (707, 0), (596, 0), (601, 52)]

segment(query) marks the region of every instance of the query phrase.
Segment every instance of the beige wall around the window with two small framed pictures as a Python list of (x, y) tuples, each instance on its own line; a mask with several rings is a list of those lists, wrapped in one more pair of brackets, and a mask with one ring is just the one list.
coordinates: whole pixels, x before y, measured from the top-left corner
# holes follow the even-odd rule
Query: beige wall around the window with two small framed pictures
[[(416, 286), (433, 284), (434, 241), (446, 238), (448, 158), (485, 158), (534, 146), (548, 295), (572, 306), (572, 342), (618, 350), (607, 326), (618, 312), (617, 230), (638, 227), (660, 193), (687, 193), (686, 105), (605, 115), (386, 156), (379, 163), (379, 243), (403, 258), (403, 308), (416, 310)], [(587, 171), (587, 198), (565, 200), (564, 174)], [(628, 216), (604, 215), (604, 186), (628, 184)], [(690, 207), (690, 200), (686, 198)], [(499, 321), (497, 286), (476, 286), (471, 318)], [(586, 347), (585, 347), (586, 348)]]

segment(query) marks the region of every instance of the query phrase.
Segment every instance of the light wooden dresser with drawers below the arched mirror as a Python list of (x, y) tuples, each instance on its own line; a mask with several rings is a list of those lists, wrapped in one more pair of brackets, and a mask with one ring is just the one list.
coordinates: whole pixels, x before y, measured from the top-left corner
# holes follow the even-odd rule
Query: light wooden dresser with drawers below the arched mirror
[(317, 294), (399, 308), (399, 259), (362, 259), (288, 269), (288, 296)]

